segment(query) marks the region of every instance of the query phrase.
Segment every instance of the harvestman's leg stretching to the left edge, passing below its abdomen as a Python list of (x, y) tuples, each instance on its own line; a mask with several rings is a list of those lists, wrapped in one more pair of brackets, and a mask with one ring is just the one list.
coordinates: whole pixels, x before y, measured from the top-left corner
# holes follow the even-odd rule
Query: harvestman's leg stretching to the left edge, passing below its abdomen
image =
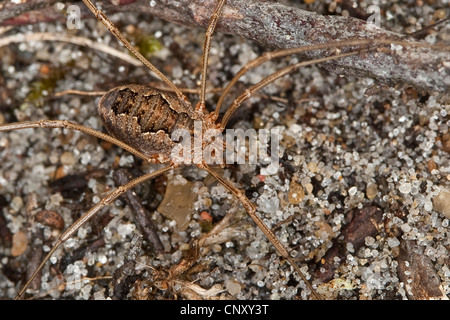
[(122, 141), (111, 137), (107, 134), (104, 134), (100, 131), (94, 130), (89, 127), (82, 126), (80, 124), (76, 124), (67, 120), (39, 120), (39, 121), (28, 121), (28, 122), (15, 122), (15, 123), (9, 123), (4, 124), (0, 126), (0, 132), (2, 131), (12, 131), (12, 130), (20, 130), (20, 129), (29, 129), (29, 128), (66, 128), (70, 130), (80, 131), (87, 134), (90, 134), (94, 137), (103, 139), (105, 141), (111, 142), (115, 144), (116, 146), (119, 146), (128, 152), (134, 154), (135, 156), (153, 163), (158, 163), (156, 161), (156, 158), (149, 158), (142, 152), (134, 149), (133, 147), (130, 147), (126, 143), (123, 143)]

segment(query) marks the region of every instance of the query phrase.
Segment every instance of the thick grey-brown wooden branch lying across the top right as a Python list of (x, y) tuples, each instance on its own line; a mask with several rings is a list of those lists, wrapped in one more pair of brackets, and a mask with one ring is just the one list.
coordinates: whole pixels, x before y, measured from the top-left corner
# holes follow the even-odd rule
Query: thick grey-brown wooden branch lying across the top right
[[(207, 25), (215, 4), (215, 0), (121, 2), (124, 4), (117, 6), (103, 2), (102, 8), (107, 14), (117, 11), (147, 13), (174, 23), (202, 28)], [(77, 4), (84, 7), (82, 3)], [(0, 15), (0, 25), (2, 24), (11, 23), (4, 20), (2, 22)], [(261, 0), (228, 0), (217, 31), (256, 41), (271, 50), (355, 38), (407, 40), (417, 43), (405, 35), (377, 28), (363, 20), (322, 16)], [(441, 48), (404, 46), (395, 53), (391, 50), (378, 50), (376, 54), (348, 57), (324, 63), (322, 66), (343, 76), (371, 77), (391, 86), (406, 83), (418, 90), (445, 93), (450, 90), (449, 52), (448, 45)], [(314, 59), (323, 55), (324, 51), (312, 52), (306, 54), (305, 58)]]

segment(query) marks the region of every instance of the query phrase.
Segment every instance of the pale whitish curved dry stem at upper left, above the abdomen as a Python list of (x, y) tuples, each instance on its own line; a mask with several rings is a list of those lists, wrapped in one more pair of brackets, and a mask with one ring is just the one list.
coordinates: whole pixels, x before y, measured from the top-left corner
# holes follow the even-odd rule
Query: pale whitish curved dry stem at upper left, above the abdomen
[(134, 66), (141, 66), (141, 62), (138, 59), (133, 58), (128, 53), (116, 50), (107, 46), (103, 43), (92, 41), (91, 39), (77, 37), (77, 36), (67, 36), (61, 34), (53, 34), (48, 32), (37, 32), (28, 34), (15, 34), (12, 36), (4, 37), (0, 39), (0, 47), (7, 46), (11, 43), (22, 43), (30, 41), (62, 41), (73, 43), (83, 47), (93, 48), (95, 50), (104, 52), (116, 58), (120, 58)]

